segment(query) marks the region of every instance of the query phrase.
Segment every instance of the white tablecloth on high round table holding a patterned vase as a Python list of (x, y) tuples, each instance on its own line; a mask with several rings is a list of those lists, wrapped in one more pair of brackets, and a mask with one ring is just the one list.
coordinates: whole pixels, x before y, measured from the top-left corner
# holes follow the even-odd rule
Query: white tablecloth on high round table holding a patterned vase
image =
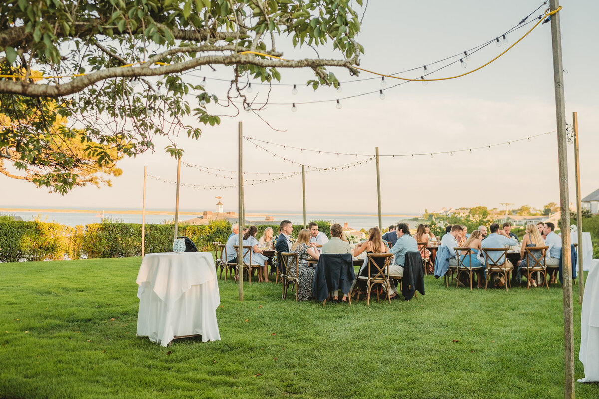
[(220, 340), (216, 269), (210, 252), (149, 253), (141, 262), (137, 335), (167, 346), (174, 336)]

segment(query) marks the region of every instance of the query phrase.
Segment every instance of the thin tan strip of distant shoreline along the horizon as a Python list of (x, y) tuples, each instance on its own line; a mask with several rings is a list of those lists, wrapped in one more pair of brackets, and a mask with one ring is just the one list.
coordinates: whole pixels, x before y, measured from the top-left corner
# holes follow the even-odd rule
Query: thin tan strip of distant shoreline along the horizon
[[(54, 209), (54, 208), (49, 208), (49, 209), (41, 209), (41, 208), (0, 208), (0, 212), (6, 212), (6, 213), (11, 213), (11, 212), (38, 212), (38, 213), (102, 213), (101, 210), (92, 210), (92, 209)], [(119, 210), (105, 210), (104, 213), (108, 213), (108, 214), (141, 214), (141, 210), (124, 210), (124, 211), (119, 211)], [(146, 214), (149, 215), (173, 215), (175, 214), (174, 211), (151, 211), (151, 210), (146, 210)], [(180, 215), (190, 215), (190, 216), (201, 216), (203, 214), (203, 211), (198, 211), (198, 212), (191, 212), (191, 211), (179, 211)], [(353, 214), (353, 213), (339, 213), (339, 214), (331, 214), (331, 213), (310, 213), (308, 212), (308, 214), (310, 216), (346, 216), (346, 217), (352, 217), (352, 216), (378, 216), (378, 214)], [(246, 216), (303, 216), (303, 213), (246, 213)], [(409, 214), (383, 214), (383, 217), (416, 217), (418, 215), (409, 215)]]

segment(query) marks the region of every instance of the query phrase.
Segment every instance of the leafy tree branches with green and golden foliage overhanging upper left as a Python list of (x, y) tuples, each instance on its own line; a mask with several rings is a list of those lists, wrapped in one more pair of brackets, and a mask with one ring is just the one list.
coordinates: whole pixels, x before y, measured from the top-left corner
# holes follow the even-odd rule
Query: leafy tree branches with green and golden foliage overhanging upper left
[[(308, 85), (337, 85), (327, 67), (352, 73), (364, 49), (355, 41), (359, 17), (351, 0), (7, 0), (0, 4), (0, 146), (18, 148), (17, 158), (41, 154), (44, 139), (76, 139), (98, 167), (115, 154), (152, 150), (156, 136), (184, 132), (193, 139), (199, 126), (215, 125), (239, 106), (258, 112), (245, 91), (249, 79), (278, 81), (282, 68), (307, 67)], [(361, 0), (356, 0), (362, 5)], [(328, 45), (338, 59), (281, 60), (276, 42), (292, 47)], [(292, 57), (289, 57), (292, 58)], [(205, 90), (184, 72), (231, 68), (226, 98)], [(43, 79), (34, 72), (40, 70)], [(210, 104), (210, 106), (208, 106)], [(229, 115), (231, 112), (228, 112)], [(68, 118), (58, 133), (53, 115)], [(236, 113), (235, 113), (236, 114)], [(197, 123), (183, 122), (191, 116)], [(76, 130), (76, 131), (75, 131)], [(61, 137), (62, 136), (62, 137)], [(92, 145), (95, 143), (96, 145)], [(182, 150), (167, 147), (173, 156)], [(25, 155), (23, 155), (25, 153)], [(32, 154), (33, 153), (33, 154)], [(58, 191), (80, 184), (63, 152), (55, 164)], [(11, 156), (11, 159), (12, 156)], [(20, 164), (16, 164), (19, 167)], [(39, 180), (37, 183), (44, 182)]]

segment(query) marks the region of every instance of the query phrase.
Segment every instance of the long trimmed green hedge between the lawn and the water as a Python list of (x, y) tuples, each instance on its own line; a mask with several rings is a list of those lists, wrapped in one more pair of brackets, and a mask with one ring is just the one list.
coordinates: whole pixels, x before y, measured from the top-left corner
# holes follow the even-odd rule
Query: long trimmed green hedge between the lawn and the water
[[(319, 230), (330, 237), (331, 222), (316, 220)], [(256, 237), (267, 227), (279, 232), (279, 225), (260, 225)], [(302, 225), (295, 225), (297, 237)], [(200, 251), (213, 250), (213, 242), (225, 243), (231, 224), (225, 220), (209, 225), (179, 225), (179, 235), (189, 237)], [(146, 253), (169, 252), (173, 247), (173, 225), (146, 225)], [(0, 262), (59, 260), (92, 257), (128, 257), (141, 254), (141, 224), (104, 221), (86, 226), (64, 226), (41, 221), (23, 222), (0, 218)]]

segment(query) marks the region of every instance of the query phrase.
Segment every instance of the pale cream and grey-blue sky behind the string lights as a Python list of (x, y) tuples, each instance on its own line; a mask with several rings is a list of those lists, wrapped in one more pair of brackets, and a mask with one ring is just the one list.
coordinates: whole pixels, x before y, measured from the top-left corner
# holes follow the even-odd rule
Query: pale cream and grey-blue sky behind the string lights
[[(461, 51), (473, 48), (505, 32), (539, 7), (539, 0), (426, 2), (370, 1), (358, 41), (364, 45), (361, 66), (382, 73), (395, 73), (422, 67)], [(599, 188), (595, 156), (599, 148), (597, 37), (599, 26), (596, 1), (562, 1), (560, 12), (566, 121), (578, 112), (580, 134), (580, 171), (582, 196)], [(544, 8), (548, 7), (545, 6)], [(543, 10), (544, 10), (543, 8)], [(539, 15), (537, 11), (534, 16)], [(507, 36), (509, 45), (530, 29), (516, 30)], [(488, 62), (506, 46), (491, 45), (474, 54), (462, 69), (449, 66), (430, 77), (458, 75)], [(313, 50), (291, 48), (280, 39), (277, 50), (284, 57), (314, 57)], [(331, 56), (325, 49), (320, 56)], [(338, 56), (337, 56), (338, 57)], [(439, 65), (445, 65), (440, 63)], [(208, 78), (231, 78), (229, 68), (217, 72), (195, 72)], [(237, 122), (243, 121), (244, 134), (269, 142), (320, 151), (350, 154), (413, 154), (457, 151), (522, 139), (555, 130), (555, 105), (550, 24), (537, 27), (522, 42), (491, 65), (462, 78), (429, 82), (423, 86), (411, 82), (378, 94), (341, 100), (335, 99), (367, 91), (378, 91), (380, 80), (343, 84), (343, 92), (322, 88), (314, 92), (305, 87), (309, 70), (280, 70), (282, 82), (297, 84), (274, 87), (270, 102), (288, 103), (311, 100), (333, 102), (297, 105), (270, 105), (260, 115), (275, 131), (253, 113), (223, 118), (217, 127), (203, 127), (201, 139), (176, 138), (185, 150), (183, 161), (208, 167), (236, 170)], [(341, 81), (351, 80), (346, 70), (333, 70)], [(401, 76), (416, 78), (422, 68)], [(360, 78), (371, 77), (362, 73)], [(195, 81), (201, 78), (190, 78)], [(395, 84), (387, 79), (387, 87)], [(222, 97), (226, 82), (208, 80), (207, 88)], [(252, 95), (264, 99), (267, 87), (253, 85)], [(193, 101), (193, 99), (190, 99)], [(192, 103), (193, 105), (193, 103)], [(189, 123), (193, 123), (189, 120)], [(156, 151), (137, 158), (123, 159), (121, 177), (113, 178), (111, 188), (75, 188), (64, 197), (37, 189), (31, 183), (0, 176), (0, 207), (86, 207), (141, 208), (143, 168), (163, 179), (175, 180), (177, 164), (164, 153), (165, 140), (156, 140)], [(276, 154), (317, 167), (354, 162), (353, 156), (318, 155), (272, 147)], [(244, 170), (282, 172), (301, 170), (283, 163), (244, 143)], [(570, 201), (574, 201), (573, 146), (568, 146)], [(256, 177), (253, 177), (256, 178)], [(501, 208), (501, 202), (542, 207), (559, 202), (558, 166), (555, 133), (491, 150), (415, 158), (382, 158), (382, 208), (384, 214), (422, 213), (441, 207), (485, 205)], [(335, 173), (307, 175), (307, 208), (313, 211), (376, 213), (376, 166), (374, 162)], [(205, 185), (234, 185), (198, 170), (183, 168), (181, 182)], [(247, 187), (246, 210), (296, 211), (302, 209), (301, 176), (282, 182)], [(237, 210), (237, 188), (201, 191), (181, 188), (180, 207), (188, 210), (214, 210), (215, 196), (222, 197), (225, 210)], [(166, 183), (148, 179), (147, 208), (174, 208), (175, 189)]]

